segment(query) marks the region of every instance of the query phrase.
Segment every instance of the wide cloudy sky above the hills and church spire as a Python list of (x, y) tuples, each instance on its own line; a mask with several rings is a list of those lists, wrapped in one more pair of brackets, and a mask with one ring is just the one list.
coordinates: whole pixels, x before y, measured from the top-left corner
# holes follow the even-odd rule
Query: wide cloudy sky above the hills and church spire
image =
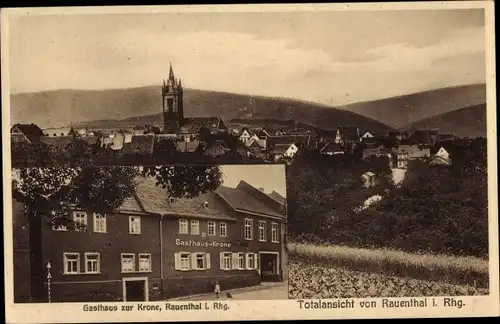
[(485, 82), (483, 10), (29, 15), (11, 91), (160, 85), (326, 104)]

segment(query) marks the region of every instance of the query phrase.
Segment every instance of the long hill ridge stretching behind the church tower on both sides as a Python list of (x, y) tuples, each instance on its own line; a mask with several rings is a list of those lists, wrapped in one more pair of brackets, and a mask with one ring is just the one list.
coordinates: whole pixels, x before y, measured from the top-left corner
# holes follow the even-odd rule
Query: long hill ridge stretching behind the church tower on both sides
[[(184, 90), (186, 117), (220, 116), (296, 120), (323, 129), (358, 125), (363, 130), (385, 132), (392, 128), (371, 118), (322, 104), (294, 99), (250, 96), (196, 89)], [(12, 123), (36, 123), (41, 127), (86, 125), (119, 127), (161, 122), (161, 88), (148, 86), (111, 90), (60, 90), (11, 96)]]

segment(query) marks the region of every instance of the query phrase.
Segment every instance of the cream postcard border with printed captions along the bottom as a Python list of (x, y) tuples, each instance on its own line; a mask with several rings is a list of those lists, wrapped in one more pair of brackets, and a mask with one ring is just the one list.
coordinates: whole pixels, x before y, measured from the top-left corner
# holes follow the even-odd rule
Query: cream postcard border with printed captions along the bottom
[[(490, 295), (457, 297), (464, 301), (462, 308), (376, 308), (376, 309), (301, 309), (298, 300), (225, 301), (230, 309), (217, 311), (116, 311), (85, 312), (84, 303), (14, 304), (13, 303), (13, 251), (11, 220), (11, 160), (10, 160), (10, 94), (9, 94), (9, 19), (25, 14), (49, 15), (96, 13), (160, 13), (160, 12), (260, 12), (296, 10), (414, 10), (414, 9), (470, 9), (484, 8), (486, 14), (486, 70), (487, 73), (487, 132), (488, 132), (488, 192), (489, 192), (489, 255)], [(5, 256), (5, 313), (8, 323), (85, 323), (85, 322), (144, 322), (144, 321), (221, 321), (250, 319), (358, 319), (358, 318), (420, 318), (420, 317), (476, 317), (498, 316), (499, 264), (498, 264), (498, 191), (496, 146), (496, 75), (494, 53), (493, 1), (445, 1), (413, 3), (352, 3), (352, 4), (288, 4), (288, 5), (217, 5), (217, 6), (141, 6), (141, 7), (71, 7), (71, 8), (13, 8), (2, 9), (2, 123), (3, 123), (3, 179), (4, 179), (4, 256)], [(434, 297), (427, 297), (430, 301)], [(397, 298), (398, 300), (409, 298)], [(443, 297), (435, 297), (442, 301)], [(377, 299), (354, 299), (375, 300)], [(326, 300), (325, 300), (326, 301)], [(167, 302), (155, 302), (164, 307)], [(187, 305), (189, 302), (172, 302)], [(204, 303), (204, 302), (202, 302)], [(88, 303), (90, 304), (90, 303)], [(102, 305), (132, 305), (136, 303), (92, 303)]]

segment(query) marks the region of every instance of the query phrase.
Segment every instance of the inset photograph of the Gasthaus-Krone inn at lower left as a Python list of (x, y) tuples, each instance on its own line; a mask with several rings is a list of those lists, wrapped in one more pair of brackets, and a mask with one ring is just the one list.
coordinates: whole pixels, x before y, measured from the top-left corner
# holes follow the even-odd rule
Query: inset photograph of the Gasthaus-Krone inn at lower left
[(12, 180), (14, 302), (288, 297), (282, 165), (24, 168)]

